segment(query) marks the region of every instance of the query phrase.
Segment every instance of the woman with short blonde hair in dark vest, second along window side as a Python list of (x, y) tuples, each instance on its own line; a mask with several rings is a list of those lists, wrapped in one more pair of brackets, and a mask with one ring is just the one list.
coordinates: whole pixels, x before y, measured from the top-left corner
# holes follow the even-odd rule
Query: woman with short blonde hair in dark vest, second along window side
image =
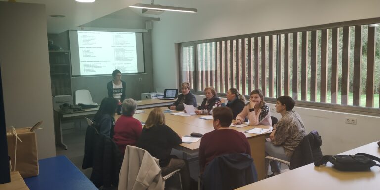
[(206, 95), (206, 98), (203, 99), (202, 104), (195, 110), (195, 113), (198, 115), (209, 114), (215, 103), (220, 101), (219, 97), (216, 96), (214, 87), (204, 88), (204, 95)]

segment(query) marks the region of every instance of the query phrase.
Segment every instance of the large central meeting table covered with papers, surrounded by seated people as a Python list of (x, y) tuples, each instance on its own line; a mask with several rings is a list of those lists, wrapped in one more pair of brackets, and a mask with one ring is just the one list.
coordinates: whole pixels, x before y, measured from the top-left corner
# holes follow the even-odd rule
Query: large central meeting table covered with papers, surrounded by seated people
[[(166, 109), (166, 108), (161, 108)], [(139, 121), (145, 122), (150, 111), (152, 109), (145, 109), (144, 113), (135, 114), (133, 117)], [(172, 111), (178, 112), (178, 111)], [(115, 119), (120, 116), (116, 116)], [(200, 115), (193, 115), (188, 117), (172, 115), (170, 113), (165, 113), (166, 125), (171, 127), (176, 133), (181, 136), (190, 135), (192, 132), (205, 134), (214, 130), (212, 125), (212, 120), (199, 119)], [(251, 147), (251, 157), (254, 160), (255, 167), (258, 174), (258, 179), (265, 179), (267, 172), (265, 170), (265, 138), (269, 136), (270, 131), (264, 134), (252, 134), (245, 133), (245, 131), (250, 130), (254, 127), (269, 129), (271, 127), (258, 125), (258, 126), (246, 126), (246, 127), (230, 127), (237, 131), (243, 132), (247, 137), (249, 145)], [(196, 155), (199, 150), (200, 141), (193, 143), (182, 143), (176, 149), (179, 149), (187, 154)]]

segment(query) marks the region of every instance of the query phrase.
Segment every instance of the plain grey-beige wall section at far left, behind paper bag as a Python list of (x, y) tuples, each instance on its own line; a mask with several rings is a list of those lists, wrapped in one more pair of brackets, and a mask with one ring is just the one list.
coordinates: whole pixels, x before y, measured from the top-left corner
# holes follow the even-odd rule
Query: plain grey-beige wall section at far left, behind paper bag
[(55, 156), (45, 5), (0, 2), (0, 62), (6, 127), (36, 130), (39, 159)]

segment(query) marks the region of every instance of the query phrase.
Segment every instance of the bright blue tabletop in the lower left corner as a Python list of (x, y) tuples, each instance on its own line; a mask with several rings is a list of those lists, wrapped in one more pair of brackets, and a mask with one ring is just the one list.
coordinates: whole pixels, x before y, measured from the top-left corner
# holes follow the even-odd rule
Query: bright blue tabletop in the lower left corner
[(24, 178), (30, 190), (98, 190), (66, 156), (41, 159), (38, 164), (39, 175)]

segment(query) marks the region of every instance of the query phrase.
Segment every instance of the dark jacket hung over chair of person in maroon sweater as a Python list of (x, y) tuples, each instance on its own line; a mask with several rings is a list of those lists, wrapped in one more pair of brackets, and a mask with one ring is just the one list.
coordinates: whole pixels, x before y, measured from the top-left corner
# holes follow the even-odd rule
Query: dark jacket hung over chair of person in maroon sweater
[(232, 190), (257, 181), (253, 159), (248, 154), (225, 154), (214, 158), (202, 176), (202, 190)]

